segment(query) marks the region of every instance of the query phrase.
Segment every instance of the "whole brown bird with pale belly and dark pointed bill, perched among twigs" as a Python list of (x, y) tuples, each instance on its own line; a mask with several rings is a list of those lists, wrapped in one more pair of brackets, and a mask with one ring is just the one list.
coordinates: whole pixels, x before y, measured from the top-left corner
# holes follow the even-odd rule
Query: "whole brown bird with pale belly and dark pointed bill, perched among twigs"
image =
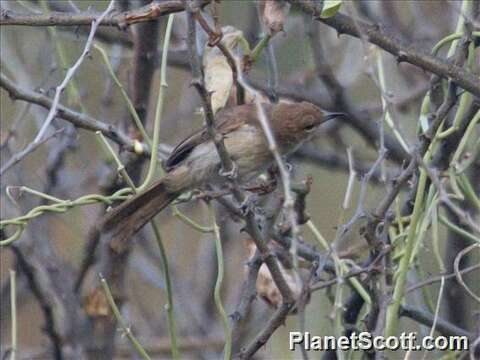
[[(282, 155), (309, 140), (322, 123), (342, 115), (325, 113), (307, 102), (263, 107)], [(236, 164), (240, 183), (272, 164), (273, 156), (254, 104), (220, 111), (215, 124)], [(102, 221), (103, 230), (125, 241), (183, 192), (205, 183), (215, 185), (225, 181), (220, 174), (220, 158), (205, 127), (177, 145), (165, 162), (165, 169), (167, 174), (149, 189), (111, 210)]]

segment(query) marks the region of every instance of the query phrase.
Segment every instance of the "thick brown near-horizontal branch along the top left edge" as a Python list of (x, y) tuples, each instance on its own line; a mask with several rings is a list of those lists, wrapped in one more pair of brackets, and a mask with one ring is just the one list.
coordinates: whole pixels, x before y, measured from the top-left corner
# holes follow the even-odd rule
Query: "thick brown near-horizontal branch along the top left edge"
[[(204, 7), (210, 0), (201, 0)], [(106, 16), (99, 25), (125, 26), (145, 21), (153, 21), (161, 16), (184, 11), (183, 0), (164, 0), (161, 3), (152, 2), (140, 8), (114, 13)], [(76, 26), (90, 25), (97, 20), (101, 13), (94, 11), (82, 11), (79, 13), (52, 12), (49, 14), (21, 14), (15, 11), (0, 9), (0, 25), (26, 25), (26, 26)]]

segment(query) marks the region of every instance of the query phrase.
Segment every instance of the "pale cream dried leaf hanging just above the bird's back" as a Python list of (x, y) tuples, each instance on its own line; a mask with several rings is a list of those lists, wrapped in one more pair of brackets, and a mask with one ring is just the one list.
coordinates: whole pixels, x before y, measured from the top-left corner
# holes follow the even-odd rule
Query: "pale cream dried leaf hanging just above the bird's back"
[[(233, 26), (222, 28), (222, 44), (230, 50), (237, 46), (238, 37), (243, 33)], [(205, 46), (203, 52), (203, 69), (205, 72), (205, 88), (212, 94), (212, 109), (215, 114), (227, 103), (233, 86), (233, 73), (227, 59), (216, 47)]]

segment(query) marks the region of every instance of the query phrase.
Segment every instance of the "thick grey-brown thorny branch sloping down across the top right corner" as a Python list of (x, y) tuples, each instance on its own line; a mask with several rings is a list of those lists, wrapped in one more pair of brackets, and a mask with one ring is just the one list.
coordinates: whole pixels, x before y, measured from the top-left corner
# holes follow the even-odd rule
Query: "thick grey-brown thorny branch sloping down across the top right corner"
[(336, 29), (339, 34), (365, 39), (395, 56), (399, 63), (407, 62), (440, 77), (451, 79), (463, 89), (480, 96), (480, 80), (478, 76), (462, 69), (460, 66), (448, 63), (436, 56), (428, 55), (414, 46), (404, 44), (399, 39), (387, 34), (379, 25), (372, 25), (358, 19), (353, 20), (343, 14), (336, 14), (329, 18), (320, 18), (318, 16), (320, 9), (314, 3), (298, 0), (288, 1), (298, 5), (304, 12), (313, 15), (315, 20)]

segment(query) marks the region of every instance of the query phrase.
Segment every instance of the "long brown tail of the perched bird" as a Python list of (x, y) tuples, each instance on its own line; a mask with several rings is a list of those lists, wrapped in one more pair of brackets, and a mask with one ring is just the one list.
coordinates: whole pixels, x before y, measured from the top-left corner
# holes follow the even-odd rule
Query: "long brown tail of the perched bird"
[(163, 179), (159, 180), (149, 189), (109, 211), (101, 220), (100, 229), (111, 236), (117, 245), (125, 244), (178, 195), (167, 190)]

